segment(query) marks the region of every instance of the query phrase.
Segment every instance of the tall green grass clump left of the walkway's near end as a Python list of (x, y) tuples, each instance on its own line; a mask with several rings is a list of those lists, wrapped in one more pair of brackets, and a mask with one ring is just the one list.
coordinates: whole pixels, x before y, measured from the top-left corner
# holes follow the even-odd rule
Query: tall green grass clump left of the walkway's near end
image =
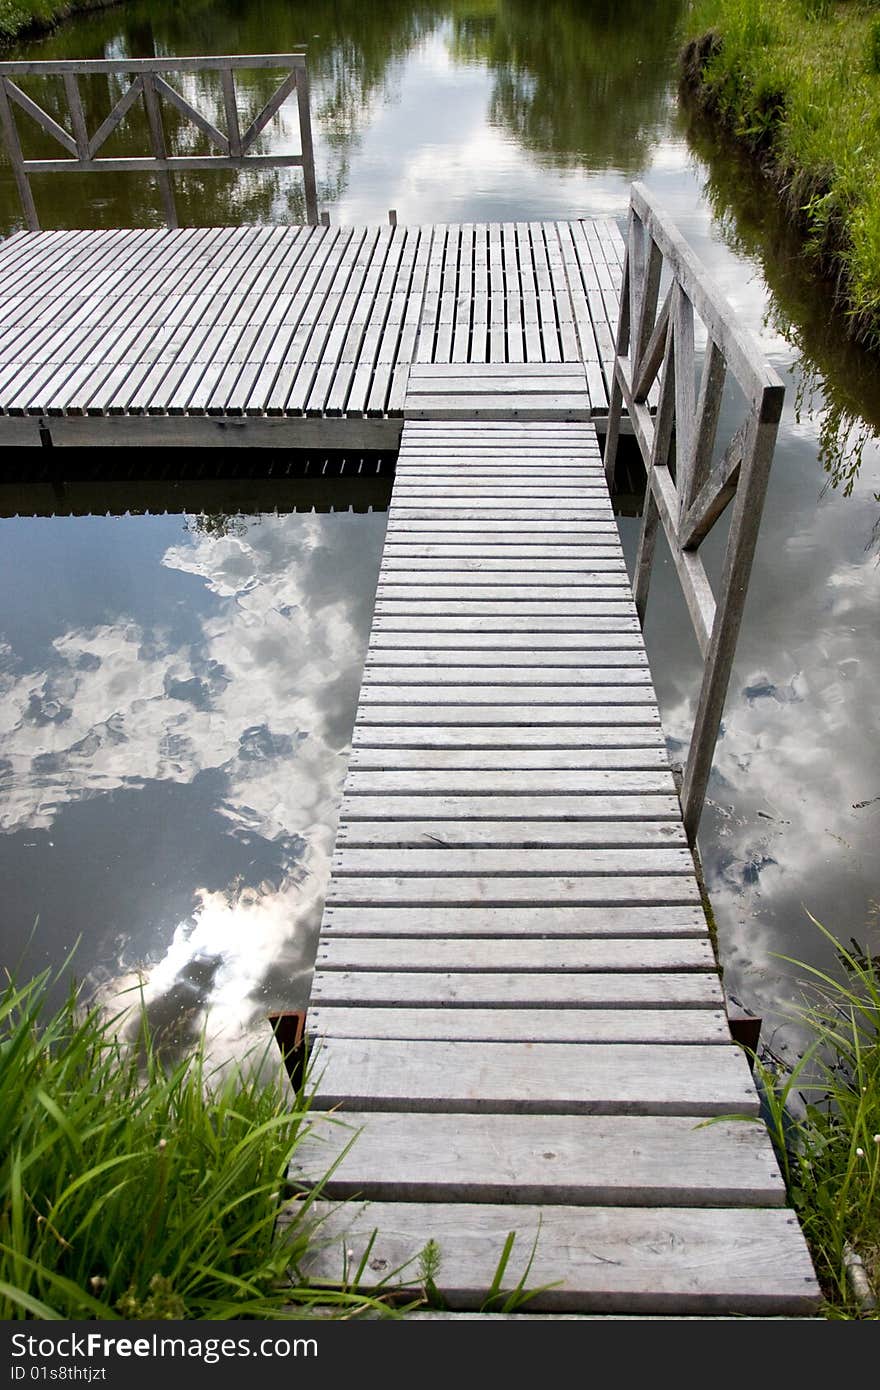
[[(311, 1201), (282, 1201), (307, 1102), (272, 1069), (168, 1063), (142, 1023), (0, 994), (0, 1318), (306, 1316), (377, 1300), (292, 1287)], [(266, 1069), (263, 1069), (266, 1070)], [(285, 1209), (285, 1220), (278, 1222)]]

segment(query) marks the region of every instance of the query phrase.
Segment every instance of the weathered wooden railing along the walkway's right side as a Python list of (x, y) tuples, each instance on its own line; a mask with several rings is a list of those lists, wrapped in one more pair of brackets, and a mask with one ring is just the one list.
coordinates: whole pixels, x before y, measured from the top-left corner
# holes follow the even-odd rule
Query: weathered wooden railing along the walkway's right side
[[(660, 303), (660, 288), (669, 281)], [(694, 322), (706, 352), (695, 379)], [(740, 386), (745, 418), (720, 460), (716, 435), (727, 374)], [(656, 413), (648, 393), (659, 378)], [(633, 185), (623, 271), (620, 327), (609, 407), (605, 468), (614, 478), (621, 407), (648, 473), (634, 594), (644, 623), (658, 523), (669, 541), (696, 641), (703, 676), (684, 767), (681, 809), (691, 844), (703, 808), (715, 744), (748, 589), (760, 513), (783, 410), (784, 386), (758, 343), (681, 234)], [(699, 546), (728, 503), (730, 531), (716, 600)]]

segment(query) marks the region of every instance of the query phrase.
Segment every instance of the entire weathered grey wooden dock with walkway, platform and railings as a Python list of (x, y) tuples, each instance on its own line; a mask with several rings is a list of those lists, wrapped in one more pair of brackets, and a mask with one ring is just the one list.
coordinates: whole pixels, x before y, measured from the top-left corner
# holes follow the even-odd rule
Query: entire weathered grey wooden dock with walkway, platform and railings
[[(10, 101), (35, 115), (10, 67), (7, 138)], [(210, 138), (236, 161), (231, 88)], [(167, 183), (171, 89), (129, 90)], [(74, 122), (79, 165), (100, 133)], [(35, 171), (19, 150), (25, 208)], [(480, 1309), (514, 1232), (506, 1283), (534, 1247), (546, 1286), (530, 1311), (815, 1309), (767, 1134), (724, 1119), (759, 1098), (690, 848), (781, 384), (645, 190), (626, 247), (601, 220), (28, 231), (0, 303), (7, 445), (399, 446), (307, 1019), (291, 1180), (335, 1166), (304, 1273), (417, 1283), (435, 1240), (450, 1308)], [(635, 592), (623, 424), (648, 473)], [(716, 599), (699, 545), (728, 505)], [(639, 623), (660, 524), (705, 656), (681, 788)]]

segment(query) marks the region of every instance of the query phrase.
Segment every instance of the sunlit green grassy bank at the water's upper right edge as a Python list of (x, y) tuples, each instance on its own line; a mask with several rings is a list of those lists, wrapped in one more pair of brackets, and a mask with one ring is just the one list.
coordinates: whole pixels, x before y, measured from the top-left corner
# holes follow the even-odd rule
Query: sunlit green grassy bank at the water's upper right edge
[(880, 0), (695, 0), (687, 93), (759, 157), (880, 350)]

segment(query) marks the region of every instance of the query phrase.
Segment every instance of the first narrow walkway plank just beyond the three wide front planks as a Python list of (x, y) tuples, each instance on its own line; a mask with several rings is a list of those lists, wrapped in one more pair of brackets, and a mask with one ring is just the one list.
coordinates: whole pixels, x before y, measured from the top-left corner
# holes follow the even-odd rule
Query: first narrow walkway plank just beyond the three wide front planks
[[(371, 1009), (313, 1008), (314, 1038), (420, 1038), (446, 1042), (730, 1042), (722, 1009)], [(691, 1122), (692, 1123), (692, 1122)], [(485, 1130), (485, 1126), (482, 1126)], [(359, 1188), (363, 1193), (363, 1187)], [(339, 1195), (335, 1184), (329, 1195)], [(402, 1194), (393, 1194), (405, 1201)], [(516, 1200), (516, 1198), (514, 1198)], [(520, 1194), (520, 1201), (534, 1198)]]

